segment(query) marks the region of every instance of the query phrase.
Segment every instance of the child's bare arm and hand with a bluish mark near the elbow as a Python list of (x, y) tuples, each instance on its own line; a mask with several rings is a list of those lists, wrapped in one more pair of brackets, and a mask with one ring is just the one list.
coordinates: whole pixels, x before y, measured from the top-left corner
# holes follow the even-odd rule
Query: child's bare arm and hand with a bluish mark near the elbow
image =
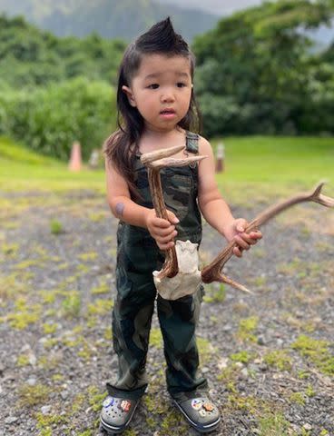
[(173, 225), (178, 223), (176, 216), (168, 211), (170, 221), (163, 220), (157, 218), (154, 209), (133, 202), (128, 183), (107, 161), (105, 161), (105, 173), (107, 199), (113, 215), (124, 223), (148, 229), (160, 249), (171, 248), (172, 240), (177, 234), (175, 225)]

